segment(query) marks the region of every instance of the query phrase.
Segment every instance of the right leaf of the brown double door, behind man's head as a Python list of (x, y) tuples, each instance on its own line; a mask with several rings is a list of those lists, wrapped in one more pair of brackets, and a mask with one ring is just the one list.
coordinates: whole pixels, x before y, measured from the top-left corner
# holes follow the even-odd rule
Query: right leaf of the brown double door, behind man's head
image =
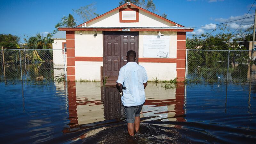
[[(121, 58), (120, 58), (120, 68), (123, 67), (127, 61), (126, 61), (126, 53), (130, 50), (133, 50), (136, 52), (137, 60), (138, 62), (138, 32), (132, 32), (132, 33), (121, 33)], [(123, 58), (123, 60), (122, 60)]]

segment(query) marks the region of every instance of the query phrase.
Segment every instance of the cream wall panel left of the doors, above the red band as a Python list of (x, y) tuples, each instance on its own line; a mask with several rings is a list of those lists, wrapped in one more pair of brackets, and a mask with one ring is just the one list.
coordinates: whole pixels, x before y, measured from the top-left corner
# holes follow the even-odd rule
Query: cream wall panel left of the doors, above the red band
[[(79, 33), (82, 33), (80, 35)], [(76, 57), (102, 57), (103, 36), (102, 31), (75, 31), (75, 56)]]

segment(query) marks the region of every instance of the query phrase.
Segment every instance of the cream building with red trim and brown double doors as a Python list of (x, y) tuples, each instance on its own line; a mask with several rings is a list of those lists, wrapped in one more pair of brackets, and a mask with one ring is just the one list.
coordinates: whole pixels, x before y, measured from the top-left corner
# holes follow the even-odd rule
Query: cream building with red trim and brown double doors
[(128, 2), (76, 27), (59, 30), (66, 31), (70, 81), (100, 80), (100, 66), (104, 77), (117, 78), (129, 50), (137, 53), (137, 62), (147, 70), (149, 80), (184, 81), (186, 32), (194, 28)]

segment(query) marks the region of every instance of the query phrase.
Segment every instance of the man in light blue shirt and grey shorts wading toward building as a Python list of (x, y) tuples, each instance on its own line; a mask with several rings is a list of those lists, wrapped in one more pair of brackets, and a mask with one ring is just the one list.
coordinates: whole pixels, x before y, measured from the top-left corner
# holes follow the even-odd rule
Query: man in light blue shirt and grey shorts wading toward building
[(144, 89), (148, 85), (147, 72), (135, 62), (136, 58), (136, 52), (127, 52), (127, 64), (120, 69), (116, 81), (117, 90), (122, 92), (124, 115), (131, 136), (134, 136), (134, 130), (139, 132), (140, 111), (146, 100)]

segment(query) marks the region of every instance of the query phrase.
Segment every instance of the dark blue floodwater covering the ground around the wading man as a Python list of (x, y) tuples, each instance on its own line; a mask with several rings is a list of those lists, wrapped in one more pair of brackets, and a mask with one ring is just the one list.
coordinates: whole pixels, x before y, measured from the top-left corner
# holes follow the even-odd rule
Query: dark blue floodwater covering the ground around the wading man
[[(253, 143), (256, 84), (148, 83), (140, 133), (100, 82), (0, 83), (4, 143)], [(167, 88), (167, 89), (166, 89)]]

